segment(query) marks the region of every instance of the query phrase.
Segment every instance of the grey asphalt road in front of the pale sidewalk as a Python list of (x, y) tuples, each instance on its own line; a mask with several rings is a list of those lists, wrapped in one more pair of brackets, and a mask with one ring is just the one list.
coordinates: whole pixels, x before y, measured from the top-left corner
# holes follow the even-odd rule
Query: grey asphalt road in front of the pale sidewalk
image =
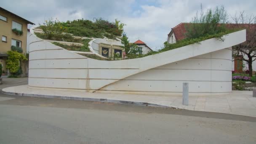
[(0, 144), (256, 144), (256, 118), (1, 93)]

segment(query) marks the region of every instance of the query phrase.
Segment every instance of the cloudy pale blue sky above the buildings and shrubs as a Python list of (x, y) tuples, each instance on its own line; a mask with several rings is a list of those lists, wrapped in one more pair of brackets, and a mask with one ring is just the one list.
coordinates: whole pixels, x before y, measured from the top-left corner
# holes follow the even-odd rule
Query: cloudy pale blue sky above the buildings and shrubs
[(2, 0), (0, 7), (37, 25), (50, 18), (118, 19), (126, 24), (124, 31), (130, 42), (140, 39), (157, 50), (163, 47), (171, 28), (192, 20), (200, 4), (203, 10), (223, 5), (230, 16), (240, 11), (256, 15), (256, 0)]

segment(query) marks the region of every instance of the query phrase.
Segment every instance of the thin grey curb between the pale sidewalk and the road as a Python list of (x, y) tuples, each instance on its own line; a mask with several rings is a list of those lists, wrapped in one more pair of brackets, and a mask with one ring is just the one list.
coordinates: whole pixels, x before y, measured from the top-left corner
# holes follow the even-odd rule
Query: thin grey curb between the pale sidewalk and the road
[(136, 101), (120, 101), (114, 99), (94, 99), (94, 98), (82, 98), (82, 97), (74, 97), (74, 96), (53, 96), (53, 95), (43, 95), (43, 94), (29, 94), (29, 93), (13, 93), (1, 90), (2, 93), (13, 96), (30, 96), (30, 97), (40, 97), (40, 98), (57, 98), (57, 99), (68, 99), (68, 100), (77, 100), (77, 101), (96, 101), (96, 102), (104, 102), (104, 103), (115, 103), (115, 104), (131, 104), (138, 106), (149, 106), (149, 107), (162, 107), (162, 108), (176, 108), (176, 107), (168, 107), (159, 104), (150, 104), (147, 102), (136, 102)]

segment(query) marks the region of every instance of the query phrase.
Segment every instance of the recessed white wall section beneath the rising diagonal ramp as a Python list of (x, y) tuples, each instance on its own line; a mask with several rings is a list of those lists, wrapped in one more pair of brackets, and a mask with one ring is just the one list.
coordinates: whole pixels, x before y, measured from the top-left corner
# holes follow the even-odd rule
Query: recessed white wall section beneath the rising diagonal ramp
[(218, 95), (232, 91), (232, 49), (176, 61), (140, 72), (108, 85), (98, 92), (173, 94), (182, 93), (182, 83), (196, 95)]

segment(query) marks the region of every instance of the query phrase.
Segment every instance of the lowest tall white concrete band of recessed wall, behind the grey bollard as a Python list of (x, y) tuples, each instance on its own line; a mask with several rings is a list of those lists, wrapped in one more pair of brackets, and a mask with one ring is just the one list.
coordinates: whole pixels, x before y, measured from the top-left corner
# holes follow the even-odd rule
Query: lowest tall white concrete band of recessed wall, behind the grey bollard
[[(214, 93), (231, 92), (230, 82), (203, 81), (168, 81), (168, 80), (120, 80), (107, 85), (101, 90), (108, 91), (148, 91), (148, 92), (182, 92), (182, 83), (189, 83), (189, 92)], [(229, 90), (229, 91), (227, 91)]]

